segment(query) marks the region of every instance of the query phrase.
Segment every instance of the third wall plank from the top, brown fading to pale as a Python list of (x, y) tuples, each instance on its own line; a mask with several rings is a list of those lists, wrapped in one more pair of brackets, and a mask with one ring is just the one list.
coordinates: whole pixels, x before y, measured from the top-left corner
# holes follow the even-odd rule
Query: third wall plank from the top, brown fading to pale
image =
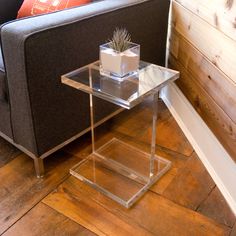
[(236, 109), (233, 109), (236, 107), (236, 85), (175, 29), (171, 32), (169, 50), (236, 123)]

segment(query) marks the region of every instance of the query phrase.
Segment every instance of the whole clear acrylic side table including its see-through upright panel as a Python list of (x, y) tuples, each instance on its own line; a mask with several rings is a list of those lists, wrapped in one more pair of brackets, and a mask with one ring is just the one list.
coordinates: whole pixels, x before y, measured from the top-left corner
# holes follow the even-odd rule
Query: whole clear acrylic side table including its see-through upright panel
[(171, 166), (156, 155), (156, 118), (158, 91), (176, 78), (177, 72), (144, 62), (122, 82), (101, 75), (99, 63), (62, 76), (90, 94), (92, 153), (70, 173), (130, 207)]

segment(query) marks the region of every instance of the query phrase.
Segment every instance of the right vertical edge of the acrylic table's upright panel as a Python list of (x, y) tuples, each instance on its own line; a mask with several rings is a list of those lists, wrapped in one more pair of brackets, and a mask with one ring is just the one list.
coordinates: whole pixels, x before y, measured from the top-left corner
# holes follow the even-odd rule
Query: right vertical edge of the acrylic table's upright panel
[(152, 117), (152, 140), (151, 140), (151, 157), (150, 157), (150, 179), (154, 176), (154, 159), (156, 154), (156, 124), (158, 112), (159, 92), (153, 95), (153, 117)]

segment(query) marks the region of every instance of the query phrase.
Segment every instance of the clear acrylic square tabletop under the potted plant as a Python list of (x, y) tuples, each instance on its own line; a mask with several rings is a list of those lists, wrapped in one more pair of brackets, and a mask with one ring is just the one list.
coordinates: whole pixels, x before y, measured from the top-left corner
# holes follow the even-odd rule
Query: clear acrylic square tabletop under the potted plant
[(63, 75), (62, 83), (130, 109), (178, 77), (177, 71), (140, 61), (138, 73), (119, 82), (101, 75), (98, 61)]

